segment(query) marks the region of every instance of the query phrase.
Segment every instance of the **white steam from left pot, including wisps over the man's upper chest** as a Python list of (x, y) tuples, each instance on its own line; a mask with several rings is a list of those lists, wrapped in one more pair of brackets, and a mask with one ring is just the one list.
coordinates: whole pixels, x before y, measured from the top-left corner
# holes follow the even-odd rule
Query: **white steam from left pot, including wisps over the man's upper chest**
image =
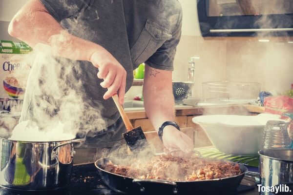
[[(78, 12), (76, 4), (65, 2), (62, 6), (68, 15), (76, 15), (61, 22), (68, 32), (84, 39), (95, 34), (87, 30), (89, 26), (84, 22), (84, 17), (99, 20), (97, 11), (85, 12), (82, 9)], [(90, 16), (85, 13), (90, 13)], [(54, 52), (52, 54), (52, 50), (58, 47), (54, 42), (56, 40), (57, 43), (70, 44), (62, 33), (53, 35), (49, 39), (51, 47), (39, 43), (34, 47), (34, 51), (23, 59), (28, 64), (33, 64), (28, 77), (28, 83), (33, 85), (29, 88), (33, 91), (25, 94), (24, 103), (30, 104), (29, 110), (22, 111), (21, 122), (14, 129), (11, 139), (27, 140), (29, 137), (25, 134), (40, 131), (39, 136), (31, 137), (34, 140), (28, 141), (64, 140), (65, 134), (70, 134), (73, 138), (77, 134), (79, 137), (85, 137), (89, 131), (103, 130), (107, 126), (101, 117), (103, 106), (95, 104), (93, 108), (91, 102), (86, 100), (79, 62), (56, 57)], [(31, 93), (32, 101), (26, 102), (31, 98)]]

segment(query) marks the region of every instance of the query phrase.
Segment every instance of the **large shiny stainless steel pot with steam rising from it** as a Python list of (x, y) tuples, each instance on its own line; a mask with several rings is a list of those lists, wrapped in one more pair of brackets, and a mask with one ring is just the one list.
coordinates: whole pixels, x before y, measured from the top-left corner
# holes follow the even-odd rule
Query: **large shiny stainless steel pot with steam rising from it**
[(53, 190), (70, 183), (73, 143), (28, 142), (0, 138), (0, 186), (15, 190)]

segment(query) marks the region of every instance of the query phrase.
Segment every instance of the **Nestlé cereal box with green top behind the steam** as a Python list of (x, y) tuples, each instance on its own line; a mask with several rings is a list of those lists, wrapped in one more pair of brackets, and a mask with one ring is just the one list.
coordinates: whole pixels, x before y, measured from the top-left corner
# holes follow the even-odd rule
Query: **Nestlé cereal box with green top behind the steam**
[(0, 111), (20, 111), (30, 65), (25, 56), (32, 51), (24, 42), (0, 40)]

